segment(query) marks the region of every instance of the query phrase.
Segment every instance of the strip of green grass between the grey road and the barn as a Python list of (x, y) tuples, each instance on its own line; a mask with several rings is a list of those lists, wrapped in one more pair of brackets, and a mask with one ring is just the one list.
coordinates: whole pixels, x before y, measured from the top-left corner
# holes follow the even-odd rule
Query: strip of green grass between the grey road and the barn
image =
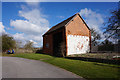
[[(12, 57), (22, 57), (34, 60), (41, 60), (55, 66), (64, 68), (71, 71), (84, 78), (94, 79), (94, 78), (116, 78), (119, 77), (120, 65), (111, 65), (96, 62), (87, 62), (81, 60), (70, 60), (65, 58), (53, 57), (45, 54), (14, 54), (14, 55), (4, 55)], [(119, 67), (119, 68), (118, 68)]]

